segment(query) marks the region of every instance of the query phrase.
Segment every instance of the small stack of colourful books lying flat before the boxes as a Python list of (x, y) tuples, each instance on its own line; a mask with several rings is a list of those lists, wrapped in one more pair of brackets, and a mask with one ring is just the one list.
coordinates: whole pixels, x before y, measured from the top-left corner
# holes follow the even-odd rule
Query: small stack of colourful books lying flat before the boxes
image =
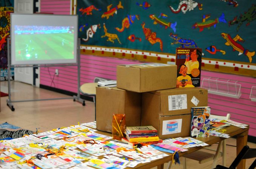
[(156, 128), (153, 126), (138, 126), (138, 127), (126, 127), (126, 138), (122, 138), (123, 142), (131, 143), (133, 145), (137, 143), (160, 143)]

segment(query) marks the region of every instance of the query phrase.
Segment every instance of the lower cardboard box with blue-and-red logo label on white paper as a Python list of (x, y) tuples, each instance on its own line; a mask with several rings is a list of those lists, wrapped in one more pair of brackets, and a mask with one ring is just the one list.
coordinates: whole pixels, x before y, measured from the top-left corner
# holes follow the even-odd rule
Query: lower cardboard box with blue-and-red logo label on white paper
[(160, 139), (190, 136), (190, 115), (142, 116), (141, 125), (152, 125), (158, 131)]

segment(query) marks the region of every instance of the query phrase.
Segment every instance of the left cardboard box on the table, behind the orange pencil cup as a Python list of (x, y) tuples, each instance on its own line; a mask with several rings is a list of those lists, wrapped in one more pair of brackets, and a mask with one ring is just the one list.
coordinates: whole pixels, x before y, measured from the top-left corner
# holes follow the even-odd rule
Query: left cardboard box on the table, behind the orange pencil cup
[(112, 133), (113, 114), (125, 114), (126, 126), (140, 126), (141, 94), (116, 87), (96, 87), (96, 125)]

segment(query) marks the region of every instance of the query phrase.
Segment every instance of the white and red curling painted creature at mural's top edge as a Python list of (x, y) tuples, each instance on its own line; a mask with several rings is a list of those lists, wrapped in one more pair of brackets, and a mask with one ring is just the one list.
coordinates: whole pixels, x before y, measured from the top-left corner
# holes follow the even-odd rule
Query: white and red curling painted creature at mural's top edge
[(197, 3), (193, 0), (183, 0), (183, 1), (180, 1), (177, 9), (174, 9), (172, 6), (169, 6), (169, 8), (171, 9), (171, 12), (173, 12), (174, 14), (177, 14), (180, 11), (186, 14), (187, 11), (192, 11), (196, 7), (198, 7), (199, 10), (202, 10), (203, 9), (202, 6), (203, 6), (202, 4)]

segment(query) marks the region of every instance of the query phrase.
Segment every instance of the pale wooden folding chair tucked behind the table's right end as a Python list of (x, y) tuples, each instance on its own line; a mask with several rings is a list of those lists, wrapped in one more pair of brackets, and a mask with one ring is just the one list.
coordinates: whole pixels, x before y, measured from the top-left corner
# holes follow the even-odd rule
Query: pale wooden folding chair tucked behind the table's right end
[[(210, 118), (216, 118), (216, 119), (222, 119), (222, 120), (228, 120), (230, 119), (230, 114), (228, 113), (227, 116), (216, 116), (216, 115), (210, 115)], [(222, 146), (222, 152), (220, 151)], [(199, 161), (199, 164), (206, 163), (208, 161), (213, 160), (213, 164), (211, 168), (215, 168), (217, 164), (217, 158), (222, 155), (222, 165), (226, 165), (226, 140), (222, 140), (218, 143), (217, 149), (211, 149), (210, 147), (206, 147), (204, 149), (208, 149), (210, 151), (215, 151), (215, 154), (205, 152), (205, 151), (195, 151), (191, 152), (189, 154), (184, 155), (183, 157), (183, 169), (186, 169), (186, 158), (190, 158), (192, 160)]]

